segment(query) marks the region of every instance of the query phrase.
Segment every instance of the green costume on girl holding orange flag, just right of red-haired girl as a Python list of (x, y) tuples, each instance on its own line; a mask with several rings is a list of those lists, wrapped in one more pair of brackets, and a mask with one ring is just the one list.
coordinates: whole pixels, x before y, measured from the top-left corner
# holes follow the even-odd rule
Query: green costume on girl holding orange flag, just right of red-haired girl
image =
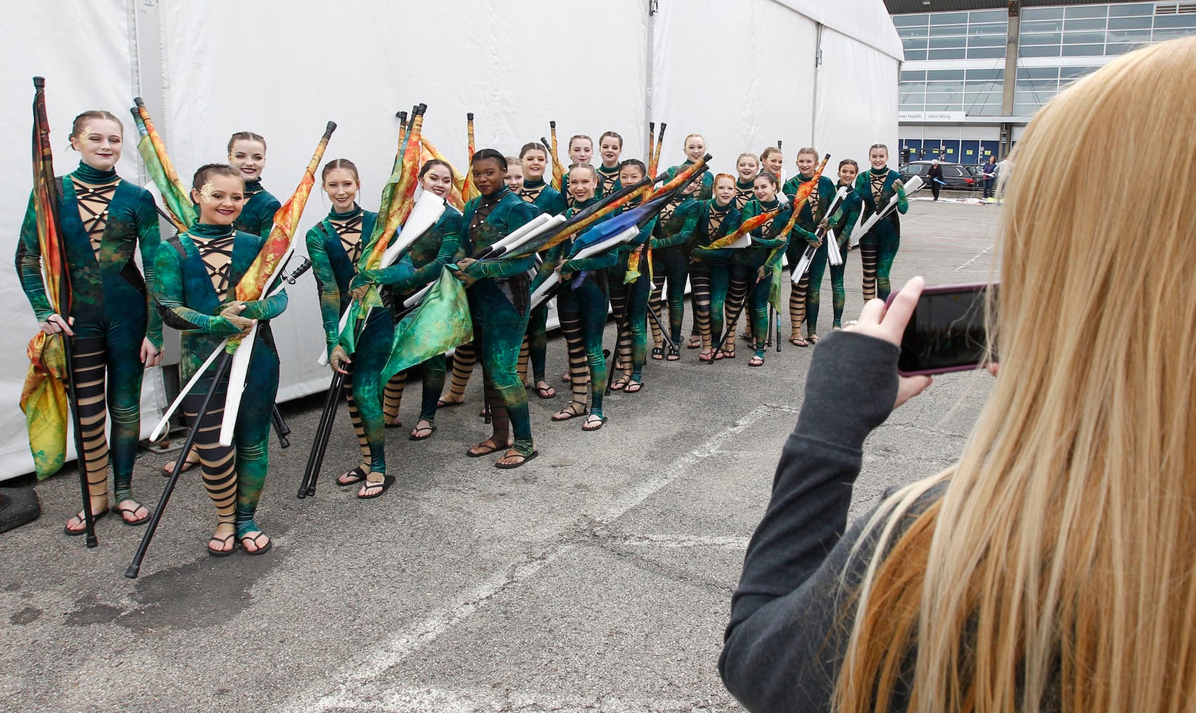
[[(764, 202), (759, 199), (751, 200), (744, 206), (743, 220), (749, 220), (761, 213), (775, 211), (780, 207), (776, 199)], [(746, 292), (746, 310), (751, 334), (755, 340), (756, 356), (764, 358), (764, 343), (768, 340), (768, 299), (773, 291), (773, 281), (777, 279), (777, 266), (781, 263), (781, 255), (788, 236), (783, 234), (785, 226), (793, 213), (792, 201), (787, 203), (780, 213), (763, 226), (751, 232), (751, 245), (737, 250), (734, 262), (731, 267), (731, 282), (744, 285)], [(759, 276), (763, 268), (764, 275)]]

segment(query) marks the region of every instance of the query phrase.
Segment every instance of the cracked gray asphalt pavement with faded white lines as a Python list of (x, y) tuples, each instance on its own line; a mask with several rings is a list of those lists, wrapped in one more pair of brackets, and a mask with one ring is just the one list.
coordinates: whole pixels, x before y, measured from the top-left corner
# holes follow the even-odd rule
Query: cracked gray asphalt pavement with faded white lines
[[(997, 213), (915, 200), (893, 284), (986, 279)], [(859, 252), (847, 290), (844, 319), (862, 305)], [(825, 333), (829, 278), (822, 305)], [(271, 439), (263, 556), (205, 553), (215, 518), (191, 470), (127, 579), (144, 529), (109, 516), (98, 548), (66, 537), (68, 468), (38, 485), (38, 520), (0, 535), (0, 711), (739, 711), (715, 664), (812, 352), (785, 342), (750, 368), (742, 345), (714, 365), (685, 349), (649, 360), (645, 389), (609, 397), (610, 421), (584, 433), (581, 419), (549, 420), (568, 398), (553, 335), (559, 395), (529, 391), (539, 457), (515, 470), (464, 457), (489, 434), (480, 372), (420, 443), (407, 439), (414, 384), (407, 427), (388, 432), (397, 482), (376, 500), (334, 482), (358, 462), (343, 408), (317, 495), (295, 498), (323, 396), (283, 404), (293, 445)], [(988, 389), (987, 376), (942, 376), (898, 409), (865, 446), (853, 516), (950, 464)], [(164, 461), (138, 461), (147, 505)]]

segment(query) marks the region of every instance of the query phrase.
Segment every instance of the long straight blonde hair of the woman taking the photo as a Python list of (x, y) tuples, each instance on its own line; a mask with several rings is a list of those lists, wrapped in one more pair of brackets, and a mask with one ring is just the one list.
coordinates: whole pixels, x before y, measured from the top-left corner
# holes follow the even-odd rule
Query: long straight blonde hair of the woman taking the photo
[(935, 713), (1196, 700), (1192, 68), (1196, 37), (1124, 55), (1018, 144), (1000, 378), (959, 462), (873, 518), (836, 709), (895, 689)]

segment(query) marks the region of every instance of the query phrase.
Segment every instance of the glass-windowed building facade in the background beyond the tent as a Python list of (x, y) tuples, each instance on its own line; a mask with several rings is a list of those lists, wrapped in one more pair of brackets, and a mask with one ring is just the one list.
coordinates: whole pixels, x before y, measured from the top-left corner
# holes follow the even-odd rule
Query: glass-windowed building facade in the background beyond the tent
[[(914, 157), (982, 163), (1008, 147), (1069, 83), (1134, 48), (1196, 33), (1196, 1), (1061, 2), (892, 16), (905, 48), (899, 78), (902, 144)], [(1017, 61), (1006, 77), (1015, 23)], [(1194, 68), (1196, 69), (1196, 68)], [(1006, 84), (1013, 104), (1002, 110)], [(964, 148), (975, 146), (974, 151)], [(958, 147), (948, 152), (952, 146)]]

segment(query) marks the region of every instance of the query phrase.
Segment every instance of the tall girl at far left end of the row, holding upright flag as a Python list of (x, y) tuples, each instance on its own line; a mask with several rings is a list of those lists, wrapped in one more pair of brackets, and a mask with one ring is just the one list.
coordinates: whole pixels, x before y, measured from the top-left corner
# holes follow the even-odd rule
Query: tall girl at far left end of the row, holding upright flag
[[(161, 319), (148, 309), (146, 290), (153, 284), (160, 237), (153, 196), (114, 170), (123, 133), (108, 111), (85, 111), (72, 126), (71, 146), (81, 160), (57, 189), (71, 313), (56, 313), (45, 295), (32, 197), (17, 240), (17, 274), (42, 331), (74, 337), (71, 368), (84, 447), (79, 458), (87, 471), (91, 512), (100, 517), (109, 511), (111, 457), (116, 512), (127, 524), (140, 525), (150, 511), (133, 498), (133, 462), (141, 427), (141, 376), (161, 360)], [(133, 262), (138, 249), (145, 279)], [(104, 434), (109, 416), (111, 450)], [(84, 530), (83, 512), (66, 524), (67, 535)]]

